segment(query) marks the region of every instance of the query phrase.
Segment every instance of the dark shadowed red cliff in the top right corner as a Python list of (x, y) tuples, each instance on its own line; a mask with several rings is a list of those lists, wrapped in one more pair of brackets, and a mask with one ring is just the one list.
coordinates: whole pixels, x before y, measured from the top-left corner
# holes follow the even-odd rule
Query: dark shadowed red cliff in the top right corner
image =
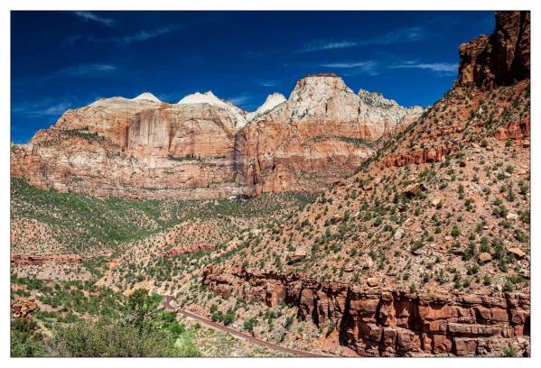
[(490, 89), (530, 75), (530, 13), (496, 12), (496, 29), (459, 49), (457, 85)]

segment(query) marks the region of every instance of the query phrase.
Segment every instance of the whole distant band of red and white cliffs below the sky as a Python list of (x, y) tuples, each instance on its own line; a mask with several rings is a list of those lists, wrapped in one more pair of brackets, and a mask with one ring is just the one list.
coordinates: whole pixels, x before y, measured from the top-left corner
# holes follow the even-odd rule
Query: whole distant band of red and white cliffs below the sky
[(271, 95), (249, 116), (212, 92), (177, 104), (145, 92), (67, 111), (30, 143), (12, 145), (11, 173), (98, 197), (313, 191), (355, 170), (422, 111), (358, 96), (334, 75), (303, 78), (288, 100)]

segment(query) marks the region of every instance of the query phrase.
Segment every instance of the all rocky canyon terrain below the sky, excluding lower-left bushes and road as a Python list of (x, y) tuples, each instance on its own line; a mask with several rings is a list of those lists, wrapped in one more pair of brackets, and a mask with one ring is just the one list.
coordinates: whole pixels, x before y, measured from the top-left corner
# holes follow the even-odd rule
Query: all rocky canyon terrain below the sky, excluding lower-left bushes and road
[[(529, 356), (529, 38), (497, 12), (425, 111), (332, 74), (253, 113), (211, 92), (70, 110), (12, 145), (12, 336), (43, 355), (159, 294), (297, 351)], [(276, 355), (167, 313), (154, 354)]]

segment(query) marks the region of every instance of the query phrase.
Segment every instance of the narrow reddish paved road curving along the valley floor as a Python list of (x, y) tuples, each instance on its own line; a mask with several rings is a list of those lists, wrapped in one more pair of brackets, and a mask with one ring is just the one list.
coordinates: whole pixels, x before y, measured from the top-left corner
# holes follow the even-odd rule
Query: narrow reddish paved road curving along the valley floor
[(289, 348), (284, 347), (284, 346), (267, 343), (266, 341), (261, 340), (260, 338), (250, 336), (250, 335), (244, 334), (242, 332), (239, 332), (239, 331), (237, 331), (237, 330), (235, 330), (233, 328), (220, 325), (219, 323), (211, 321), (210, 319), (208, 319), (206, 317), (202, 317), (202, 316), (200, 316), (198, 314), (195, 314), (195, 313), (193, 313), (191, 311), (188, 311), (186, 309), (173, 307), (171, 305), (171, 297), (165, 297), (165, 300), (163, 300), (163, 308), (165, 308), (167, 310), (173, 310), (173, 311), (175, 311), (177, 313), (182, 313), (184, 316), (196, 319), (196, 320), (200, 321), (201, 323), (203, 323), (203, 324), (205, 324), (207, 326), (217, 328), (217, 329), (219, 329), (221, 331), (224, 331), (224, 332), (227, 332), (227, 333), (229, 333), (229, 334), (231, 334), (233, 336), (244, 338), (244, 339), (246, 339), (247, 341), (249, 341), (251, 343), (254, 343), (254, 344), (259, 345), (259, 346), (266, 347), (268, 349), (277, 350), (279, 352), (283, 352), (283, 353), (287, 353), (287, 354), (293, 354), (293, 355), (302, 356), (302, 357), (310, 357), (310, 358), (313, 358), (313, 357), (329, 358), (329, 357), (332, 357), (332, 356), (337, 356), (337, 355), (331, 355), (331, 354), (318, 354), (318, 353), (304, 352), (302, 350), (294, 350), (294, 349), (289, 349)]

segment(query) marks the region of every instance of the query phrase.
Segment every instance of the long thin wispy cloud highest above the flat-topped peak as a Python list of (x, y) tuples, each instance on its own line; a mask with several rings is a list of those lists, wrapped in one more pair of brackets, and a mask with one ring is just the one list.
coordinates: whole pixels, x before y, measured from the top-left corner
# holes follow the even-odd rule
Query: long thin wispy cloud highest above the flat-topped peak
[(303, 48), (297, 52), (326, 51), (336, 49), (349, 49), (368, 45), (388, 45), (399, 42), (422, 41), (426, 32), (423, 27), (396, 28), (392, 31), (379, 34), (363, 40), (314, 40), (304, 43)]

